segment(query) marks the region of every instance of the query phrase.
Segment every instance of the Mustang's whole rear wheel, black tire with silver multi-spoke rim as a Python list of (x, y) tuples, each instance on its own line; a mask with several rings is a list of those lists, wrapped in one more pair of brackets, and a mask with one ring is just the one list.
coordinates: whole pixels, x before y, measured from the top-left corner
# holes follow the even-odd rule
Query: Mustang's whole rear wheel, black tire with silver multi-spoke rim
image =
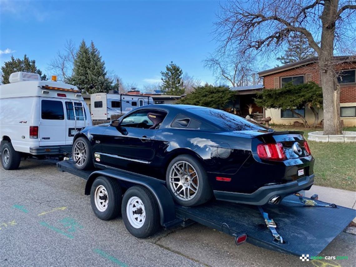
[(183, 206), (204, 204), (213, 196), (206, 171), (190, 155), (180, 155), (169, 163), (166, 184), (173, 199)]

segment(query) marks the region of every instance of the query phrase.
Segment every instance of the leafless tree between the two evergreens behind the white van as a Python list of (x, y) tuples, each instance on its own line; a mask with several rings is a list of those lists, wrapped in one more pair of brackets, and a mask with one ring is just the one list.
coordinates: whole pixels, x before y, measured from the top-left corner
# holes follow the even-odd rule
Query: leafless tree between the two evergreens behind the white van
[(47, 70), (57, 75), (58, 80), (68, 82), (73, 75), (74, 59), (77, 48), (72, 40), (67, 40), (63, 51), (58, 51), (57, 56), (48, 64)]

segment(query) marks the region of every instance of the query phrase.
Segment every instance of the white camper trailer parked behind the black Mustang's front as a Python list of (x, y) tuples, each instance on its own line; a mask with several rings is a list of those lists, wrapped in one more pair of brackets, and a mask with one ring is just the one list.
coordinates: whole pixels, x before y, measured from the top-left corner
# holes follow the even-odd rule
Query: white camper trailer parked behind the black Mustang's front
[(90, 95), (91, 119), (110, 120), (137, 107), (153, 104), (151, 96), (96, 93)]

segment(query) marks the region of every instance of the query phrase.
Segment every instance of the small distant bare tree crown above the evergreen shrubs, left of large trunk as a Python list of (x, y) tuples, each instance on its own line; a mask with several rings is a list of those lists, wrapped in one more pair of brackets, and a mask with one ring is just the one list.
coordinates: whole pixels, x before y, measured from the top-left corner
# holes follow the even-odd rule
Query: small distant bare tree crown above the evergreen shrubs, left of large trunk
[[(232, 49), (233, 50), (233, 49)], [(244, 86), (252, 83), (252, 59), (242, 53), (227, 53), (217, 51), (204, 60), (204, 67), (213, 71), (217, 81), (228, 82), (232, 87)]]

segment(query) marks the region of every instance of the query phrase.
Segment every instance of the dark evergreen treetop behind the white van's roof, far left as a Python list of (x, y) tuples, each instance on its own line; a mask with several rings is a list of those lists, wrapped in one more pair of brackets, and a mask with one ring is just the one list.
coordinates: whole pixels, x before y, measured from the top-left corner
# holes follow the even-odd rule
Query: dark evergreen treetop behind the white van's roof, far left
[(40, 69), (36, 67), (36, 61), (30, 60), (26, 54), (23, 57), (23, 60), (20, 58), (14, 58), (11, 56), (10, 61), (4, 62), (4, 66), (1, 67), (2, 72), (2, 83), (6, 84), (9, 83), (10, 74), (13, 72), (31, 72), (37, 73), (41, 76), (41, 80), (47, 80), (46, 74), (42, 75)]

